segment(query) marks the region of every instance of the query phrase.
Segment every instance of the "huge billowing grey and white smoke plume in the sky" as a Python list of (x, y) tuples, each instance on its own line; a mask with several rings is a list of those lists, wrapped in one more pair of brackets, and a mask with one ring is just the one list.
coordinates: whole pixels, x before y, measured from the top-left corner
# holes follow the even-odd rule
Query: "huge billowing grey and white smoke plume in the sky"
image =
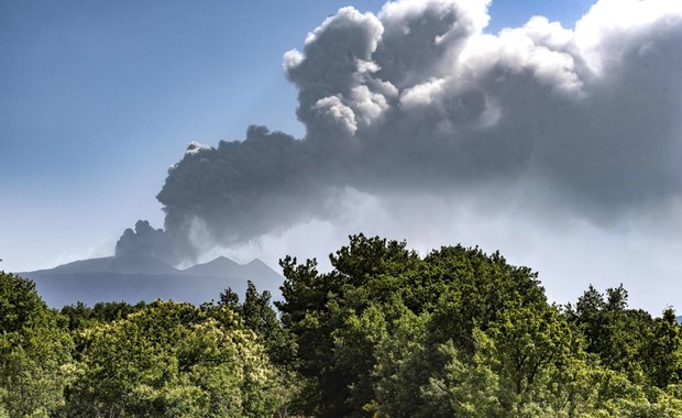
[(505, 199), (616, 222), (682, 195), (682, 2), (602, 0), (485, 33), (488, 1), (344, 8), (284, 55), (295, 140), (193, 143), (158, 200), (187, 254), (339, 216), (344, 190)]

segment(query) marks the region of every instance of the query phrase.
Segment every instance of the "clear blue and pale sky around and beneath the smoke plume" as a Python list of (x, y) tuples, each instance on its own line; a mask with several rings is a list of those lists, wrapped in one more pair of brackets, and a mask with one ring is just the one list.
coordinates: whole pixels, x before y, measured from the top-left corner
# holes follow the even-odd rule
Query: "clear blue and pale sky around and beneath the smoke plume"
[[(250, 124), (302, 138), (306, 128), (296, 120), (297, 88), (285, 77), (284, 53), (302, 51), (307, 34), (341, 7), (377, 13), (382, 4), (370, 0), (0, 2), (0, 268), (32, 271), (110, 255), (120, 234), (136, 220), (163, 227), (155, 196), (167, 168), (191, 141), (217, 145), (220, 140), (243, 140)], [(591, 4), (497, 0), (490, 8), (485, 31), (497, 34), (503, 28), (518, 28), (536, 14), (573, 29)], [(447, 207), (443, 202), (435, 207), (439, 205)], [(570, 233), (551, 221), (539, 221), (544, 223), (519, 237), (519, 230), (506, 230), (506, 222), (517, 219), (513, 216), (482, 220), (466, 212), (461, 219), (470, 227), (450, 228), (452, 237), (446, 237), (452, 242), (439, 241), (443, 235), (435, 232), (392, 229), (391, 222), (376, 232), (414, 240), (425, 251), (460, 241), (486, 251), (501, 249), (512, 263), (540, 270), (550, 297), (562, 302), (574, 299), (588, 283), (603, 289), (624, 282), (636, 307), (656, 311), (682, 304), (676, 296), (666, 296), (668, 292), (642, 294), (650, 286), (681, 290), (673, 285), (681, 270), (666, 253), (680, 249), (679, 240), (667, 241), (635, 263), (647, 240), (659, 235), (641, 238), (629, 227), (604, 229), (580, 220), (582, 227)], [(519, 222), (529, 222), (528, 217), (522, 219)], [(361, 228), (372, 223), (351, 222)], [(306, 231), (294, 228), (255, 246), (231, 251), (226, 246), (226, 251), (273, 264), (285, 255), (278, 251), (323, 256), (336, 250), (338, 237), (356, 232), (321, 232), (315, 235), (320, 242), (307, 248), (284, 242), (305, 241)], [(394, 237), (394, 231), (408, 237)], [(568, 235), (564, 242), (562, 234)], [(601, 248), (585, 250), (594, 244)], [(581, 263), (571, 262), (565, 254), (571, 252)], [(646, 276), (652, 282), (645, 283)]]

